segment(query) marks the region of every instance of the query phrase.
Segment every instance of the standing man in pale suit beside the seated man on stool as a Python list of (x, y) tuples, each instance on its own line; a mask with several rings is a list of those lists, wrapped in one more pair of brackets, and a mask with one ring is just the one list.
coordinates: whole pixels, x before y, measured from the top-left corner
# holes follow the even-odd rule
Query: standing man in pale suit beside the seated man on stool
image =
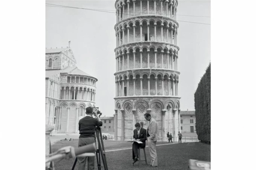
[(146, 120), (149, 121), (146, 135), (147, 135), (149, 153), (151, 156), (150, 166), (157, 167), (156, 144), (157, 144), (157, 140), (159, 139), (157, 121), (154, 118), (151, 118), (151, 115), (149, 113), (144, 114), (144, 117)]

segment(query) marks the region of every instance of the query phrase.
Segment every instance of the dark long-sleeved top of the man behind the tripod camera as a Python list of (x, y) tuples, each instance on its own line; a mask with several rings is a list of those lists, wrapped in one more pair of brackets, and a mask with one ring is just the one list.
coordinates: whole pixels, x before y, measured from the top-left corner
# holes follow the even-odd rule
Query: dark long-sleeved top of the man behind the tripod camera
[(79, 138), (95, 137), (96, 126), (102, 126), (102, 121), (87, 115), (79, 120), (78, 126)]

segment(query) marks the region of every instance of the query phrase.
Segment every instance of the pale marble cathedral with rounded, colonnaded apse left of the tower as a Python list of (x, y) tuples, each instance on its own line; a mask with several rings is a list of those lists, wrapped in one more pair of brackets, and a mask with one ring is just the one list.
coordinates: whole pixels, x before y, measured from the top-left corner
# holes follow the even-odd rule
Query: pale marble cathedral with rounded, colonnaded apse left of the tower
[(46, 49), (46, 124), (55, 133), (78, 133), (85, 108), (94, 106), (95, 77), (76, 67), (70, 47)]

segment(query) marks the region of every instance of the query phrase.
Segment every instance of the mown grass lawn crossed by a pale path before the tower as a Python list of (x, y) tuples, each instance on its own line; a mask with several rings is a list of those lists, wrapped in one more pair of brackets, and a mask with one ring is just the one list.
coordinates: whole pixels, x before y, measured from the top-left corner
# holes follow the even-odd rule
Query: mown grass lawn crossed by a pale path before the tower
[[(64, 146), (77, 147), (78, 140), (58, 141), (52, 146), (53, 152)], [(132, 143), (124, 141), (104, 141), (105, 150), (131, 148)], [(157, 142), (157, 144), (167, 144), (166, 142)], [(146, 142), (147, 146), (147, 142)], [(143, 150), (142, 160), (144, 159)], [(145, 162), (138, 166), (136, 162), (133, 166), (132, 149), (106, 152), (107, 164), (109, 170), (186, 170), (189, 159), (198, 159), (201, 161), (210, 161), (210, 145), (199, 142), (193, 143), (173, 143), (168, 145), (157, 146), (158, 167), (149, 167), (150, 155), (148, 147), (145, 148), (148, 165)], [(96, 156), (95, 156), (96, 157)], [(56, 170), (71, 170), (75, 159), (63, 159), (55, 161)], [(103, 164), (102, 170), (104, 170)], [(87, 168), (86, 168), (87, 169)], [(97, 161), (95, 158), (95, 170), (97, 170)], [(78, 170), (76, 164), (75, 170)]]

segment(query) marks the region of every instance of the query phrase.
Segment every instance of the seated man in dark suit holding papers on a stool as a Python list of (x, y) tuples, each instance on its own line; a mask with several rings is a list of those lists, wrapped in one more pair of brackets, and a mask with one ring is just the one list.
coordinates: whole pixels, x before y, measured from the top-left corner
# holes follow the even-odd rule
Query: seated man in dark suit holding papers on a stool
[(139, 123), (135, 124), (136, 129), (133, 130), (133, 141), (141, 141), (143, 143), (133, 142), (133, 163), (138, 161), (139, 147), (146, 146), (146, 129), (140, 127)]

